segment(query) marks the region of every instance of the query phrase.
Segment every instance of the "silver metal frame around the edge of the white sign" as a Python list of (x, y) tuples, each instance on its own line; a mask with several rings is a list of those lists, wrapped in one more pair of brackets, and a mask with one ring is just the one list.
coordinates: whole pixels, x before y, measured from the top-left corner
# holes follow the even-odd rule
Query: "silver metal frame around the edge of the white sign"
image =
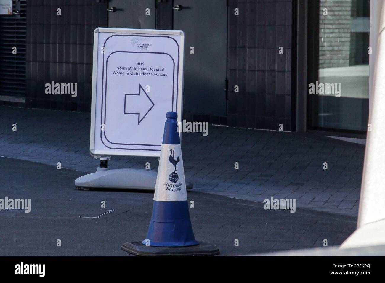
[[(98, 27), (94, 31), (94, 53), (92, 61), (92, 99), (91, 99), (91, 125), (90, 125), (90, 154), (99, 158), (102, 156), (147, 156), (147, 157), (159, 157), (159, 151), (145, 151), (145, 150), (136, 150), (136, 152), (127, 150), (122, 151), (122, 149), (109, 149), (109, 150), (97, 150), (95, 149), (95, 125), (96, 125), (96, 91), (97, 91), (97, 69), (98, 69), (98, 48), (99, 48), (99, 33), (100, 32), (109, 32), (109, 33), (129, 33), (129, 34), (148, 34), (148, 35), (179, 35), (179, 58), (177, 64), (177, 101), (176, 109), (178, 113), (178, 122), (182, 119), (182, 105), (183, 105), (183, 67), (184, 67), (184, 32), (181, 30), (152, 30), (152, 29), (131, 29), (131, 28), (101, 28)], [(174, 87), (174, 86), (173, 86)], [(164, 121), (166, 121), (166, 113), (164, 113)], [(98, 123), (99, 125), (99, 123)], [(101, 126), (101, 125), (100, 125)], [(179, 133), (181, 135), (181, 133)]]

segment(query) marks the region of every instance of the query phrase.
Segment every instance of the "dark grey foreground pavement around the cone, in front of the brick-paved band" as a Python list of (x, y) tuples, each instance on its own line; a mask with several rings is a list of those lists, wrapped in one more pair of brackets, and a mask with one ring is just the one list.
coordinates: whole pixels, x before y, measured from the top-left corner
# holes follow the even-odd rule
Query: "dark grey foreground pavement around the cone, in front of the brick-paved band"
[[(143, 240), (153, 193), (77, 191), (83, 172), (0, 157), (0, 198), (31, 199), (31, 211), (0, 211), (0, 256), (128, 256), (120, 246)], [(341, 244), (357, 218), (297, 208), (265, 210), (263, 203), (189, 191), (192, 227), (198, 241), (219, 247), (222, 256)], [(101, 202), (105, 201), (108, 214)], [(99, 218), (90, 218), (100, 216)], [(61, 245), (58, 246), (58, 240)], [(235, 246), (235, 241), (239, 246)]]

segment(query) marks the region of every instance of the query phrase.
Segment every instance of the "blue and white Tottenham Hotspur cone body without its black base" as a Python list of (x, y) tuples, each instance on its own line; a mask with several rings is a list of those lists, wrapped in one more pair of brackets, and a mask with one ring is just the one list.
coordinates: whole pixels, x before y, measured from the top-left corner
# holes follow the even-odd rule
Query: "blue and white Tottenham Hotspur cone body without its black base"
[(192, 246), (198, 242), (190, 221), (177, 113), (167, 112), (166, 117), (152, 216), (147, 238), (142, 243), (159, 247)]

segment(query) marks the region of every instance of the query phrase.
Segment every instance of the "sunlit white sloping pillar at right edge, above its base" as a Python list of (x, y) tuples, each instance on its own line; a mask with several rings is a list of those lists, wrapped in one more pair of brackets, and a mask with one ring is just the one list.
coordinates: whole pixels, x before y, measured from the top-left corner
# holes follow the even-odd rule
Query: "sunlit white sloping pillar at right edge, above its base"
[[(382, 0), (371, 2), (377, 6), (372, 11), (375, 16), (371, 19), (370, 36), (374, 40), (373, 32), (377, 30), (378, 44), (371, 42), (376, 46), (375, 56), (370, 56), (370, 67), (374, 65), (374, 69), (368, 123), (372, 130), (367, 134), (357, 228), (385, 219), (385, 4), (382, 5)], [(376, 27), (377, 10), (380, 23)]]

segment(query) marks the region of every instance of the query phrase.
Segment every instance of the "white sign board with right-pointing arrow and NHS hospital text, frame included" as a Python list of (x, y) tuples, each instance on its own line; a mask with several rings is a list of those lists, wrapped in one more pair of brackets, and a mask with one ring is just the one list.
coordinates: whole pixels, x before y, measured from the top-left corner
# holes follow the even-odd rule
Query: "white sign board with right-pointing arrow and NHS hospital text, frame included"
[(90, 153), (160, 156), (166, 113), (182, 116), (184, 33), (96, 28)]

